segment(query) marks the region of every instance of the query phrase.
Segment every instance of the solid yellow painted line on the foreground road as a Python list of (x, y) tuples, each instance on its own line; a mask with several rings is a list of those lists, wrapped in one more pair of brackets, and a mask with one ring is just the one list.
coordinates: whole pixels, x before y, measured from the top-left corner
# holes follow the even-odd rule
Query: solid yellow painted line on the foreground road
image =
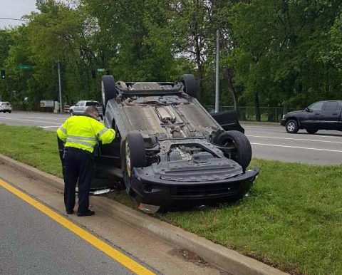
[(140, 274), (141, 275), (154, 274), (152, 271), (146, 269), (144, 266), (142, 266), (141, 264), (138, 264), (136, 261), (133, 261), (133, 259), (130, 259), (130, 257), (121, 253), (117, 249), (110, 247), (110, 245), (101, 241), (100, 239), (98, 239), (98, 237), (95, 237), (94, 235), (90, 234), (89, 232), (82, 229), (81, 227), (78, 227), (76, 224), (69, 221), (65, 217), (61, 216), (57, 212), (54, 212), (50, 208), (36, 201), (36, 199), (29, 197), (27, 194), (24, 194), (24, 192), (19, 191), (15, 187), (9, 185), (8, 183), (2, 180), (0, 180), (0, 186), (4, 187), (6, 190), (9, 190), (9, 192), (15, 194), (16, 196), (20, 197), (25, 202), (28, 202), (28, 204), (31, 204), (33, 207), (36, 207), (36, 209), (40, 210), (51, 219), (54, 219), (59, 224), (63, 225), (63, 227), (66, 227), (67, 229), (69, 229), (71, 232), (78, 235), (78, 237), (81, 237), (82, 239), (86, 240), (88, 243), (92, 244), (94, 247), (96, 247), (100, 251), (103, 251), (105, 254), (110, 256), (110, 258), (115, 259), (115, 261), (118, 261), (120, 264), (125, 266), (127, 269), (130, 269), (135, 274), (139, 274), (139, 275)]

